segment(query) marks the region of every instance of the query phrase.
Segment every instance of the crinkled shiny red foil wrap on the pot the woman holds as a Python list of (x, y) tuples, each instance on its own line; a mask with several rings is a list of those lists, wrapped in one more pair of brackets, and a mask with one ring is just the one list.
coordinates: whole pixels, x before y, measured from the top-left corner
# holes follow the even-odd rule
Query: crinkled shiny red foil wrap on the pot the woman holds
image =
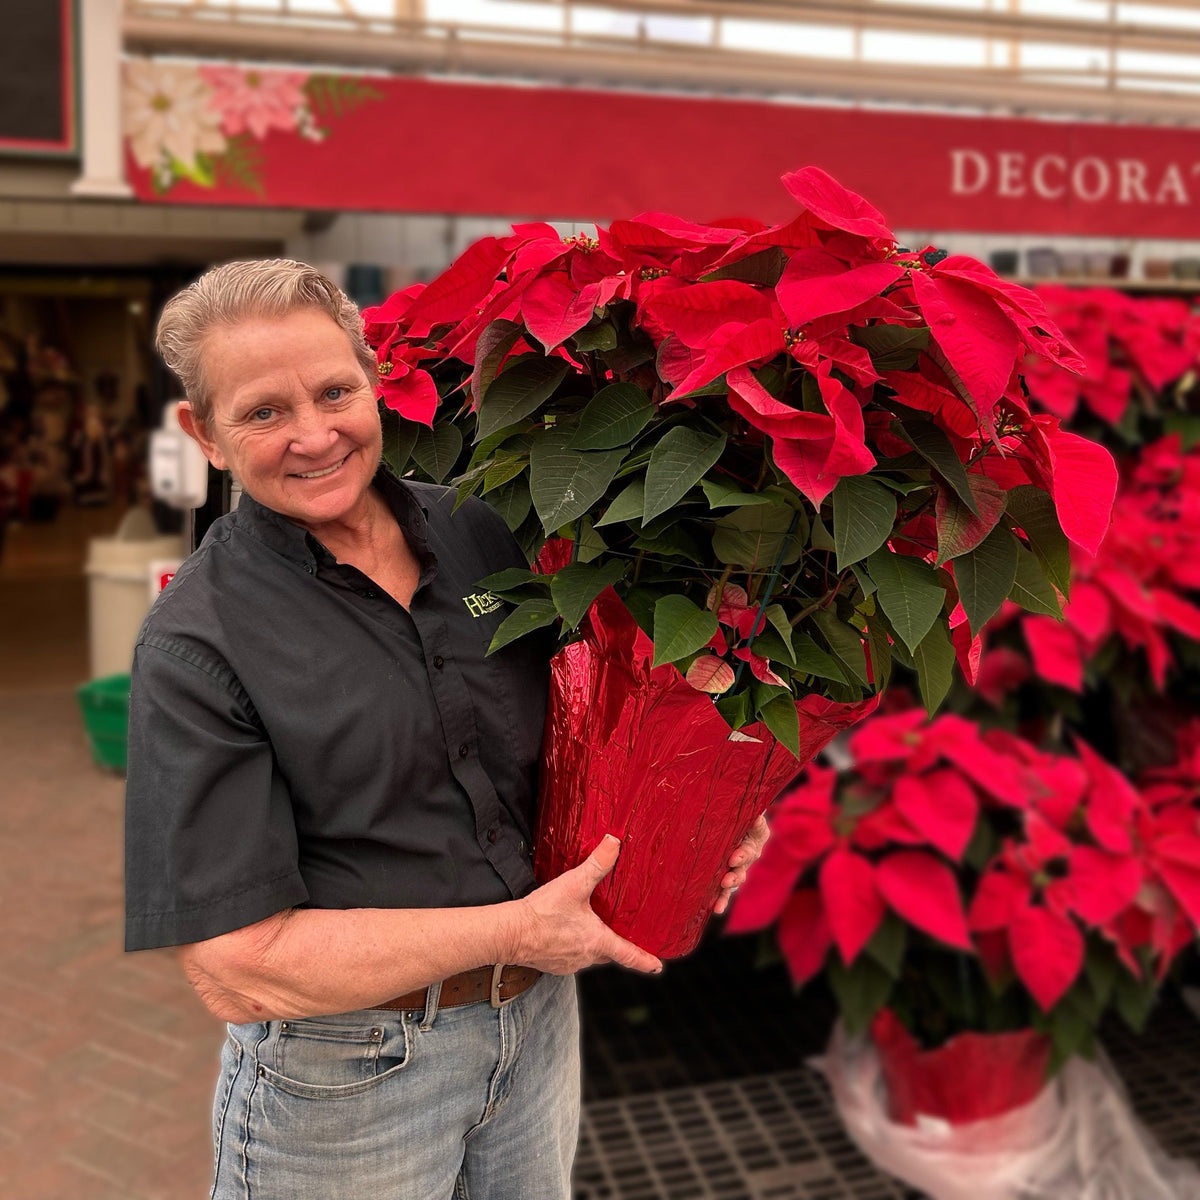
[(581, 631), (551, 661), (534, 871), (545, 883), (616, 835), (620, 857), (592, 907), (622, 937), (679, 958), (700, 941), (755, 820), (877, 697), (800, 700), (797, 760), (762, 725), (731, 737), (710, 696), (652, 666), (653, 643), (612, 588)]

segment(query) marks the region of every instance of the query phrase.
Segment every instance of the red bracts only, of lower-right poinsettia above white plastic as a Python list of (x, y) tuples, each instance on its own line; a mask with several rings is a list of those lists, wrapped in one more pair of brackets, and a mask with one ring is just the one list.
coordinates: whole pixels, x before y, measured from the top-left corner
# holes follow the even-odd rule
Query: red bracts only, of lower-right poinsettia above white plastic
[[(824, 953), (802, 947), (802, 920), (852, 965), (890, 911), (978, 953), (996, 986), (1018, 979), (1043, 1012), (1080, 978), (1088, 931), (1139, 978), (1141, 954), (1160, 976), (1200, 925), (1200, 722), (1180, 737), (1181, 766), (1158, 778), (1183, 788), (1152, 804), (1082, 742), (1073, 757), (959, 716), (880, 713), (847, 738), (852, 772), (811, 766), (775, 805), (730, 928), (790, 911), (802, 983)], [(967, 863), (980, 822), (1008, 832)]]

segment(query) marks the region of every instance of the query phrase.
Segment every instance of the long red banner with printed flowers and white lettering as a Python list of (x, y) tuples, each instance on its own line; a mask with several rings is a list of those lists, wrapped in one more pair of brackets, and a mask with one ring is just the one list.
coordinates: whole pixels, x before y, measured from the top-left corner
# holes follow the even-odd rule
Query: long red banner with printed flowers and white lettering
[(779, 176), (815, 163), (898, 229), (1200, 234), (1190, 128), (149, 60), (127, 64), (125, 113), (130, 179), (148, 202), (779, 220), (791, 211)]

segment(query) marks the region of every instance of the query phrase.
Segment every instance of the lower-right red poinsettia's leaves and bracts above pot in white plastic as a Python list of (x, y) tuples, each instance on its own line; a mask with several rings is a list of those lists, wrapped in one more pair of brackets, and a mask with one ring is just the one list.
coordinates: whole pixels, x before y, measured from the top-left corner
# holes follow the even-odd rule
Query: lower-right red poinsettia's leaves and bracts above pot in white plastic
[(796, 983), (827, 974), (852, 1033), (1033, 1027), (1061, 1062), (1110, 1007), (1140, 1027), (1196, 936), (1195, 742), (1136, 787), (1082, 740), (1051, 754), (955, 714), (869, 718), (852, 769), (812, 764), (774, 805), (728, 929), (778, 923)]

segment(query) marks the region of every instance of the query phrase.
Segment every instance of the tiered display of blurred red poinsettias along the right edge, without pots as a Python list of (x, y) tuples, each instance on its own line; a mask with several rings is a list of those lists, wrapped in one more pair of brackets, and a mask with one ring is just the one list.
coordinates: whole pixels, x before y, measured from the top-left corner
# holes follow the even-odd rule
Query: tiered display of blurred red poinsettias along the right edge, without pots
[(1040, 294), (1084, 370), (1031, 364), (1034, 410), (1116, 455), (1111, 527), (1072, 547), (1069, 596), (985, 624), (943, 715), (893, 688), (836, 769), (808, 769), (730, 928), (773, 924), (852, 1031), (884, 1006), (926, 1046), (1032, 1026), (1057, 1064), (1109, 1010), (1140, 1028), (1181, 959), (1194, 970), (1200, 314)]

